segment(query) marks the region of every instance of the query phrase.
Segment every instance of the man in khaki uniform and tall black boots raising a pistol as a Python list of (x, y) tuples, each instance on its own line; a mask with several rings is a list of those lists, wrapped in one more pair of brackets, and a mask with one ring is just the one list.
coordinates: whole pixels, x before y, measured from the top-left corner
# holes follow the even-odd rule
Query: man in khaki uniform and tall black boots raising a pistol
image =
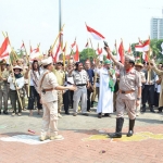
[[(123, 116), (126, 110), (129, 116), (129, 130), (127, 137), (130, 137), (134, 134), (136, 106), (140, 104), (141, 77), (140, 74), (134, 68), (134, 57), (125, 55), (125, 63), (123, 65), (113, 57), (109, 47), (104, 47), (104, 49), (113, 62), (120, 66), (120, 90), (116, 99), (116, 130), (112, 135), (109, 134), (109, 136), (111, 138), (122, 137), (122, 127), (124, 123)], [(138, 88), (137, 95), (136, 88)]]

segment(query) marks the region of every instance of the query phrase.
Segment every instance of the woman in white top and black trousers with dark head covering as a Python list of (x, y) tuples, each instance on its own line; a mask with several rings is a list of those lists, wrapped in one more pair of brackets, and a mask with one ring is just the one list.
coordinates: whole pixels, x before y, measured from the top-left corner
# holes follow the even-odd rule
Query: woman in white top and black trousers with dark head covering
[(33, 115), (35, 98), (37, 99), (38, 115), (40, 115), (40, 110), (42, 105), (40, 104), (40, 97), (38, 95), (38, 79), (42, 71), (40, 71), (37, 60), (34, 60), (32, 64), (32, 70), (29, 71), (29, 98), (28, 98), (28, 110), (29, 115)]

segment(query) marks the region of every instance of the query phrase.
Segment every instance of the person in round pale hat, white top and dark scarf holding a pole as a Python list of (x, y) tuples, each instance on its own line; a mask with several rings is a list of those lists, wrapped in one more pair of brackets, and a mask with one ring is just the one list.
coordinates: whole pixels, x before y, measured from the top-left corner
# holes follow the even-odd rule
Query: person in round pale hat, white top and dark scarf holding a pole
[[(14, 116), (17, 111), (16, 111), (16, 102), (18, 103), (18, 113), (17, 115), (22, 115), (22, 106), (21, 106), (21, 97), (25, 96), (23, 91), (23, 86), (24, 86), (24, 77), (21, 74), (22, 67), (16, 65), (13, 67), (13, 74), (11, 74), (8, 78), (8, 83), (10, 84), (10, 97), (11, 97), (11, 103), (13, 108), (13, 113), (12, 115)], [(18, 98), (18, 95), (20, 98)]]

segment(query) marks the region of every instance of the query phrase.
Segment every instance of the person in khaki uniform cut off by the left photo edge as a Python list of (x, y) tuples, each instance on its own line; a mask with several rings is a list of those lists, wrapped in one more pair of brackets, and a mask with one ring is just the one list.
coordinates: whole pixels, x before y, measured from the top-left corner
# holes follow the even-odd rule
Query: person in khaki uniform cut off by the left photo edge
[(0, 63), (0, 114), (2, 110), (2, 98), (3, 98), (3, 114), (8, 114), (8, 77), (9, 71), (7, 71), (5, 61)]

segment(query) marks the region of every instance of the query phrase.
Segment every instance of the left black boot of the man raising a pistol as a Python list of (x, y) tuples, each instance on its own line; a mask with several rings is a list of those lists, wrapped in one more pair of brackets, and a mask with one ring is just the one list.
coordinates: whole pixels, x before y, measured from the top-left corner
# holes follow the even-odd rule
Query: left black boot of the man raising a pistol
[(109, 134), (110, 138), (121, 138), (122, 137), (122, 127), (124, 124), (124, 118), (118, 117), (116, 118), (116, 130), (114, 134)]

